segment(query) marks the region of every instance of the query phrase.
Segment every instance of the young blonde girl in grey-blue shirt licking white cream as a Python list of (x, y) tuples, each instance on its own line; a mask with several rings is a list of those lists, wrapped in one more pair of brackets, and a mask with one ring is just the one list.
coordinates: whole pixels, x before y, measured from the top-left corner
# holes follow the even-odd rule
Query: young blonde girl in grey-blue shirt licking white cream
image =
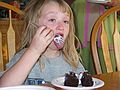
[(7, 64), (1, 86), (24, 84), (31, 78), (50, 82), (69, 71), (84, 71), (74, 45), (73, 14), (64, 0), (30, 0), (24, 20), (22, 50)]

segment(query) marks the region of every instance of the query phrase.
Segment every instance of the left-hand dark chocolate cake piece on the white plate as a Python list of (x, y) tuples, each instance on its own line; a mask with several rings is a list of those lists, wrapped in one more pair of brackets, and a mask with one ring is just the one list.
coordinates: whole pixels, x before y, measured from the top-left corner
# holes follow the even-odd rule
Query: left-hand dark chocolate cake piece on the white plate
[(77, 87), (79, 84), (79, 79), (74, 72), (66, 73), (64, 86)]

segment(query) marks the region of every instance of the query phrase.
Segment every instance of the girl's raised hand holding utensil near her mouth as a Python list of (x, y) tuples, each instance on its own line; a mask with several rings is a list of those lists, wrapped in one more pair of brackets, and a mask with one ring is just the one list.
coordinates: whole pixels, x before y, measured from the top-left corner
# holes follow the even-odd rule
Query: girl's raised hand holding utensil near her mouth
[(41, 26), (37, 29), (29, 49), (37, 54), (41, 54), (53, 39), (54, 32), (46, 26)]

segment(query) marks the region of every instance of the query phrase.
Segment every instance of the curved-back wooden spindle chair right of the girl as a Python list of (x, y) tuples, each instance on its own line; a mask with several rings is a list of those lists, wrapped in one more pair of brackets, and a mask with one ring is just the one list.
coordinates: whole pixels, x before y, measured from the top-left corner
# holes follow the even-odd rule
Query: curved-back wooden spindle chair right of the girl
[(90, 45), (97, 74), (120, 71), (118, 11), (120, 11), (120, 6), (111, 7), (97, 19), (92, 28)]

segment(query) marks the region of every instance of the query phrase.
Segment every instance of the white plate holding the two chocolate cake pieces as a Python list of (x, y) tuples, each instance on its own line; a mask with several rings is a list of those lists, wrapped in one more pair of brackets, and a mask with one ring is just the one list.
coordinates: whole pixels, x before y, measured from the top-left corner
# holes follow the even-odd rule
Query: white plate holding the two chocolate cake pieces
[(78, 87), (69, 87), (69, 86), (64, 86), (64, 80), (65, 80), (65, 77), (59, 77), (57, 79), (52, 80), (51, 83), (56, 87), (60, 87), (66, 90), (92, 90), (92, 89), (100, 88), (104, 85), (104, 82), (102, 80), (93, 78), (93, 81), (94, 81), (93, 86), (83, 87), (82, 85), (80, 85), (81, 83), (79, 83)]

